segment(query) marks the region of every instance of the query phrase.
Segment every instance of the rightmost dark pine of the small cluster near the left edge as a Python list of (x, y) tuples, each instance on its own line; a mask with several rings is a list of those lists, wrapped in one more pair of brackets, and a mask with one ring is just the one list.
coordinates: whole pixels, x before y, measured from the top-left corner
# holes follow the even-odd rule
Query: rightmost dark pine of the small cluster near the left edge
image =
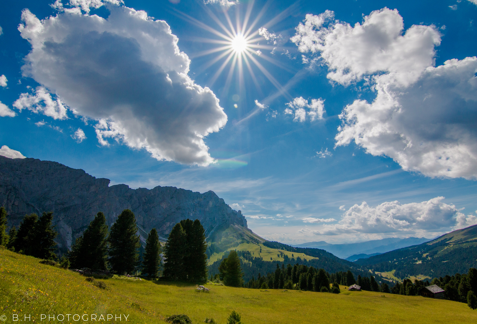
[(56, 242), (54, 238), (58, 232), (54, 230), (52, 225), (53, 212), (43, 212), (41, 217), (35, 223), (31, 240), (31, 255), (35, 258), (53, 260), (56, 258), (55, 250)]

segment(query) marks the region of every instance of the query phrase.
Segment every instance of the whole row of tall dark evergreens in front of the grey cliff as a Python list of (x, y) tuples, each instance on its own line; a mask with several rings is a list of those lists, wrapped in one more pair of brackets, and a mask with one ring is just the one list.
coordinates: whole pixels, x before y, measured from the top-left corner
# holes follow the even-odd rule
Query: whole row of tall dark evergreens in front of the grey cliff
[[(7, 212), (0, 208), (0, 245), (25, 255), (55, 260), (57, 255), (54, 238), (58, 232), (52, 225), (53, 213), (25, 215), (18, 231), (13, 226), (6, 233)], [(93, 272), (110, 271), (118, 274), (141, 271), (151, 278), (158, 278), (163, 266), (163, 278), (188, 282), (207, 280), (207, 243), (200, 221), (181, 220), (169, 234), (164, 247), (164, 259), (157, 230), (147, 237), (142, 262), (139, 258), (140, 236), (134, 213), (124, 209), (108, 230), (103, 212), (98, 212), (83, 235), (78, 237), (62, 258), (74, 269), (88, 268)], [(67, 266), (66, 266), (67, 267)]]

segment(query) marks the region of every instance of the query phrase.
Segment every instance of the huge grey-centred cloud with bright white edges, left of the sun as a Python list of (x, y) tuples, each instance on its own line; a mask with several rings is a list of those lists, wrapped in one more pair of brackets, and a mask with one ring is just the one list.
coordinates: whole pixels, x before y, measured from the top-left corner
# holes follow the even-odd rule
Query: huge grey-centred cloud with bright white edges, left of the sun
[(99, 1), (76, 2), (66, 10), (57, 1), (64, 11), (44, 20), (23, 11), (19, 30), (32, 47), (23, 73), (75, 114), (97, 120), (103, 145), (111, 137), (157, 159), (212, 163), (204, 137), (223, 127), (227, 115), (215, 94), (187, 75), (190, 60), (166, 21), (113, 4), (104, 19), (80, 10)]

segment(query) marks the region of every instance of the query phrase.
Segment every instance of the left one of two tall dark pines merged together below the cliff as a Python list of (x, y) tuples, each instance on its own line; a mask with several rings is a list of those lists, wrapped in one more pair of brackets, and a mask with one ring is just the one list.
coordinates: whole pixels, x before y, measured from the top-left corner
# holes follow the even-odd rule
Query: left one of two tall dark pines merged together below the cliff
[(164, 277), (169, 280), (186, 280), (187, 272), (184, 269), (184, 254), (186, 252), (186, 232), (180, 223), (177, 223), (169, 233), (164, 247)]

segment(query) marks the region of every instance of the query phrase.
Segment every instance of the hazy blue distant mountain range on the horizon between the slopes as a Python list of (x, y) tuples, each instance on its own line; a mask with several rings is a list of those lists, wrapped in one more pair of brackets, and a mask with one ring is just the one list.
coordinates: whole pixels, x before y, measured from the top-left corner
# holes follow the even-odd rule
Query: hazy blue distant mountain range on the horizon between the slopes
[[(382, 240), (370, 240), (365, 242), (358, 243), (348, 243), (348, 244), (330, 244), (325, 241), (319, 242), (307, 242), (302, 244), (293, 245), (300, 248), (315, 248), (323, 249), (330, 253), (333, 253), (339, 258), (346, 259), (355, 255), (355, 254), (367, 254), (367, 255), (376, 255), (379, 253), (385, 253), (388, 251), (393, 251), (396, 249), (405, 248), (407, 246), (412, 246), (416, 244), (421, 244), (432, 239), (416, 238), (409, 237), (407, 239), (399, 239), (397, 237), (387, 238)], [(365, 258), (366, 256), (362, 256)], [(355, 259), (357, 260), (357, 259)]]

